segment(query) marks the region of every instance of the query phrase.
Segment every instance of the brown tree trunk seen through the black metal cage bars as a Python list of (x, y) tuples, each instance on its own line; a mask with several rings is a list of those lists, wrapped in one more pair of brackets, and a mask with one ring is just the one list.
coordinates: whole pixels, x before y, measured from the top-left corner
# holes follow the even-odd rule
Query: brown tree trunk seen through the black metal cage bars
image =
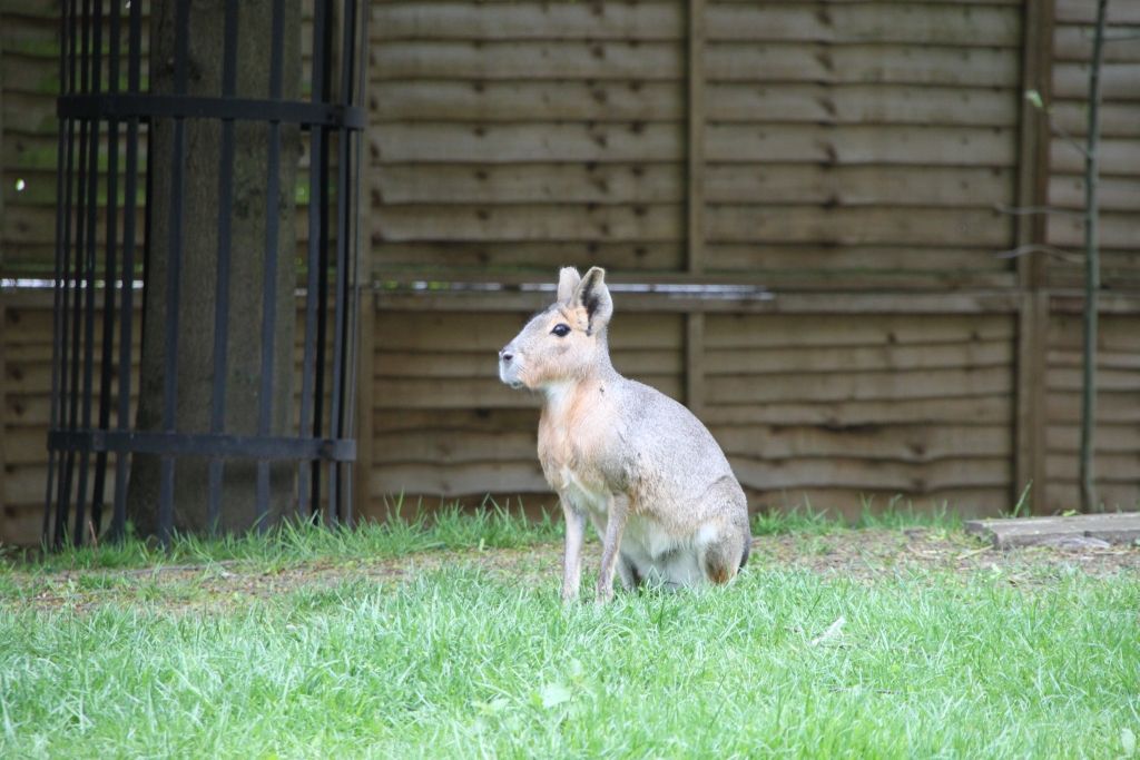
[[(178, 6), (188, 3), (185, 28), (179, 28)], [(238, 43), (235, 49), (235, 95), (242, 98), (270, 97), (272, 55), (272, 6), (270, 0), (239, 0)], [(222, 0), (155, 0), (150, 18), (150, 91), (176, 92), (176, 51), (186, 46), (187, 93), (222, 95), (223, 28), (227, 3)], [(295, 100), (301, 76), (301, 3), (285, 0), (283, 15), (284, 62), (280, 97)], [(294, 185), (301, 150), (296, 126), (280, 126), (279, 193), (267, 207), (269, 187), (270, 128), (264, 122), (235, 122), (234, 158), (221, 163), (222, 126), (217, 119), (185, 121), (185, 169), (181, 222), (180, 287), (177, 294), (178, 371), (174, 426), (180, 433), (211, 431), (214, 356), (214, 314), (218, 304), (217, 268), (219, 246), (219, 179), (233, 171), (230, 281), (228, 335), (225, 367), (223, 430), (227, 434), (259, 433), (259, 400), (262, 378), (262, 311), (266, 287), (266, 231), (269, 213), (278, 214), (276, 328), (272, 333), (272, 407), (269, 434), (290, 431), (293, 416), (293, 335), (296, 320), (296, 240), (294, 232)], [(170, 244), (170, 211), (173, 202), (172, 161), (176, 124), (155, 119), (150, 128), (149, 158), (152, 190), (149, 213), (149, 259), (147, 262), (146, 311), (139, 378), (137, 428), (166, 430), (163, 419), (166, 327), (171, 303), (166, 289)], [(135, 455), (128, 513), (139, 534), (158, 530), (160, 458)], [(293, 509), (295, 467), (270, 468), (269, 520), (275, 522)], [(179, 457), (174, 469), (173, 526), (198, 532), (207, 528), (209, 459)], [(255, 524), (256, 466), (228, 461), (222, 481), (218, 526), (243, 531)]]

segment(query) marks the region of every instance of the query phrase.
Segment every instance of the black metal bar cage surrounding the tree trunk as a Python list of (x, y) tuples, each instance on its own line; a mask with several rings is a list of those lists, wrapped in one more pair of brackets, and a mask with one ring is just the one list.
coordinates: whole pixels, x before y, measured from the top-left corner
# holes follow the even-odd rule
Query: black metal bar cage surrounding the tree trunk
[[(108, 534), (124, 534), (129, 468), (138, 455), (156, 457), (160, 467), (157, 534), (170, 539), (173, 522), (174, 473), (184, 457), (209, 460), (210, 525), (223, 507), (222, 472), (227, 463), (244, 460), (256, 468), (258, 524), (268, 513), (269, 468), (293, 463), (291, 479), (300, 514), (326, 522), (352, 521), (351, 464), (356, 458), (352, 418), (359, 255), (359, 155), (366, 117), (363, 108), (365, 18), (356, 0), (309, 0), (311, 65), (302, 65), (310, 97), (282, 98), (284, 1), (272, 0), (272, 56), (269, 91), (263, 98), (237, 97), (236, 51), (242, 44), (237, 25), (239, 0), (225, 2), (222, 82), (218, 97), (187, 93), (189, 62), (185, 40), (168, 64), (173, 70), (172, 93), (155, 93), (144, 82), (145, 8), (141, 0), (64, 0), (62, 5), (54, 346), (51, 373), (49, 471), (43, 515), (46, 544), (76, 545), (103, 530), (112, 501)], [(190, 3), (176, 5), (178, 22), (188, 22)], [(188, 28), (179, 26), (178, 28)], [(308, 31), (303, 32), (306, 36)], [(153, 43), (152, 43), (153, 44)], [(155, 155), (153, 124), (173, 125), (173, 149)], [(213, 120), (220, 129), (221, 155), (218, 207), (217, 304), (213, 330), (211, 419), (206, 431), (179, 430), (176, 403), (179, 389), (179, 302), (188, 286), (180, 259), (188, 231), (182, 212), (186, 125)], [(235, 124), (266, 124), (269, 150), (266, 196), (278, 197), (275, 183), (282, 167), (280, 129), (293, 125), (309, 155), (304, 214), (307, 251), (298, 252), (298, 307), (303, 313), (301, 389), (291, 412), (287, 435), (270, 434), (275, 403), (274, 325), (277, 300), (293, 299), (275, 286), (279, 229), (278, 209), (266, 205), (262, 345), (258, 382), (258, 431), (237, 435), (226, 430), (225, 363), (229, 334), (233, 161)], [(147, 265), (152, 250), (154, 167), (170, 162), (171, 187), (168, 262), (163, 281)], [(229, 169), (227, 170), (227, 162)], [(142, 185), (142, 187), (140, 187)], [(139, 193), (142, 202), (139, 203)], [(303, 191), (303, 193), (302, 193)], [(139, 216), (144, 218), (140, 223)], [(139, 229), (141, 227), (141, 229)], [(290, 234), (290, 232), (286, 232)], [(303, 262), (303, 263), (302, 263)], [(148, 295), (162, 289), (170, 317), (164, 336), (161, 430), (137, 430), (132, 410), (132, 342), (147, 308)], [(268, 345), (266, 344), (268, 341)], [(279, 401), (278, 401), (279, 402)], [(112, 461), (113, 459), (113, 461)], [(113, 479), (108, 482), (108, 479)], [(108, 488), (113, 483), (113, 489)], [(111, 496), (113, 495), (113, 497)]]

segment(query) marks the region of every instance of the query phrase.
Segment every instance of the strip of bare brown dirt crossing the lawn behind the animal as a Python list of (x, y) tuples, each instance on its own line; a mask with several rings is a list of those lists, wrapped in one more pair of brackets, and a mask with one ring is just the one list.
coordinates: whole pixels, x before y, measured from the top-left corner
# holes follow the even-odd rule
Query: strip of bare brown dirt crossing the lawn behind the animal
[[(417, 574), (478, 565), (519, 583), (556, 588), (561, 547), (425, 551), (375, 561), (324, 561), (266, 569), (249, 563), (165, 566), (121, 571), (72, 571), (9, 575), (0, 602), (81, 612), (106, 603), (148, 603), (166, 610), (228, 607), (299, 589), (321, 590), (344, 581), (401, 583)], [(598, 562), (600, 546), (586, 545), (586, 566)], [(1106, 577), (1140, 571), (1138, 547), (1033, 547), (995, 550), (960, 532), (937, 529), (860, 530), (755, 539), (751, 567), (792, 567), (829, 577), (872, 581), (927, 571), (990, 572), (1012, 585), (1042, 585), (1059, 574)]]

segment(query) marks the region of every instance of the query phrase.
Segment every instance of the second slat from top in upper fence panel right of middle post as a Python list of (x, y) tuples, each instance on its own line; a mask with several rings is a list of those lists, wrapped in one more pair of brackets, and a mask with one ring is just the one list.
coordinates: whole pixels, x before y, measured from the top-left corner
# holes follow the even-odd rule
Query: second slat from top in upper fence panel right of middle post
[(718, 42), (706, 51), (710, 81), (1017, 87), (1019, 56), (991, 48)]

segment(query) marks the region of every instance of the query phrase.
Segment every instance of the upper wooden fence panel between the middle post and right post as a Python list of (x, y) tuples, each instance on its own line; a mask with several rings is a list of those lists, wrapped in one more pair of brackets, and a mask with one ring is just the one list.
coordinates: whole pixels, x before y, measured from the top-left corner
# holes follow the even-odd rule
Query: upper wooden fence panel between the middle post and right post
[(1021, 30), (1011, 5), (710, 2), (708, 269), (1012, 285)]

